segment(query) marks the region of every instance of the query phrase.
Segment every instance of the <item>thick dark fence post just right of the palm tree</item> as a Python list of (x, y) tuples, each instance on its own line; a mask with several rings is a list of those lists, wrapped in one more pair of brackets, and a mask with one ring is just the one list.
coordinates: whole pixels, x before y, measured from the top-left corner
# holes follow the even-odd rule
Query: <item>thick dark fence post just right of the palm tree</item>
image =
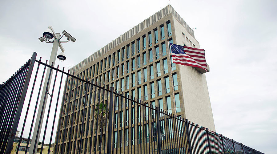
[(111, 152), (111, 135), (112, 135), (112, 115), (113, 115), (113, 97), (114, 97), (114, 87), (110, 87), (110, 107), (109, 107), (109, 126), (108, 126), (108, 147), (107, 147), (107, 154)]

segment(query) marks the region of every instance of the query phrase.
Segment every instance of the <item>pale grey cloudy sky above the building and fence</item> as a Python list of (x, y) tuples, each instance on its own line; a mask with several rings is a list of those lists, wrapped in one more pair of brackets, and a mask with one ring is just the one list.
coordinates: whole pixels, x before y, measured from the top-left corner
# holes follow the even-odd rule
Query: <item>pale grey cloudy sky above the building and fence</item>
[[(38, 38), (49, 25), (77, 41), (64, 43), (73, 67), (168, 4), (141, 1), (1, 1), (0, 82), (6, 81), (33, 52), (43, 61), (51, 44)], [(270, 154), (277, 151), (277, 1), (171, 0), (196, 27), (206, 51), (206, 73), (218, 133)]]

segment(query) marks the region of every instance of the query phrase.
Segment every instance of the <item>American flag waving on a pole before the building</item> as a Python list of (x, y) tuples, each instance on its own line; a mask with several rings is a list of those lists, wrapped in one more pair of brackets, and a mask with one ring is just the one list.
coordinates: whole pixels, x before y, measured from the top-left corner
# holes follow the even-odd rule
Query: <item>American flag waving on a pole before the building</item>
[(207, 63), (204, 49), (180, 46), (173, 43), (170, 43), (170, 46), (173, 63), (199, 67), (207, 72)]

